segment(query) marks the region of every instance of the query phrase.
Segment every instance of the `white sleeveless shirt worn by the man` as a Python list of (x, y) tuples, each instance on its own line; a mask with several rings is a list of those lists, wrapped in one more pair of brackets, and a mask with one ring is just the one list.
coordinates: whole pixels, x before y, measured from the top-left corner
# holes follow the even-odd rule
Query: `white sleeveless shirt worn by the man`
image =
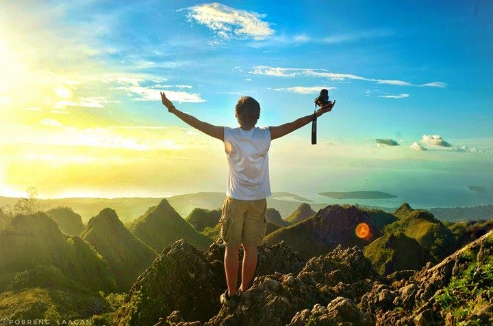
[(268, 127), (224, 127), (224, 144), (228, 162), (226, 195), (238, 200), (260, 200), (271, 195), (268, 175)]

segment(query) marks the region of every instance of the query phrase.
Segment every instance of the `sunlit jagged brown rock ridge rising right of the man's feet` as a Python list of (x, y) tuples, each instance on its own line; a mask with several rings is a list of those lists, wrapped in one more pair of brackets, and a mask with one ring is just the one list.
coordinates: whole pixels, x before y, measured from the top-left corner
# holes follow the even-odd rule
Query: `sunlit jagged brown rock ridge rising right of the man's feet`
[[(379, 275), (359, 247), (339, 246), (325, 256), (309, 260), (297, 276), (276, 272), (255, 278), (251, 288), (240, 296), (236, 310), (223, 307), (205, 325), (286, 325), (296, 312), (316, 303), (328, 305), (340, 295), (357, 299), (365, 288), (371, 287), (368, 284), (372, 278)], [(355, 305), (345, 300), (342, 305), (333, 305), (330, 316), (351, 315), (353, 310), (348, 307)], [(365, 320), (362, 316), (358, 319)]]

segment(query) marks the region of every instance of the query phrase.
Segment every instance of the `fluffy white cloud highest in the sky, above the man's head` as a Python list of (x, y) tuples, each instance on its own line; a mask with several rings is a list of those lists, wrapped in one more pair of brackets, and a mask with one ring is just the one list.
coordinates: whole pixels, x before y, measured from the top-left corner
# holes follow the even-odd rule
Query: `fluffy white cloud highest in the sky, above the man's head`
[(204, 3), (188, 8), (187, 17), (207, 26), (217, 36), (229, 40), (231, 38), (253, 38), (264, 40), (274, 33), (270, 24), (262, 21), (264, 14), (247, 12), (228, 7), (221, 3)]

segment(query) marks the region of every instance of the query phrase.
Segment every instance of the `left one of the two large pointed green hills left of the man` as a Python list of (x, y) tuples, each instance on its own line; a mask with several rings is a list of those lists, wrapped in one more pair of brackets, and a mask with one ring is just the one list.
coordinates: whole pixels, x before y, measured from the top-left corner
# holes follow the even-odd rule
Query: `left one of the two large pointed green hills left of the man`
[(137, 277), (151, 265), (156, 252), (134, 236), (111, 208), (89, 220), (82, 239), (108, 262), (118, 290), (127, 291)]

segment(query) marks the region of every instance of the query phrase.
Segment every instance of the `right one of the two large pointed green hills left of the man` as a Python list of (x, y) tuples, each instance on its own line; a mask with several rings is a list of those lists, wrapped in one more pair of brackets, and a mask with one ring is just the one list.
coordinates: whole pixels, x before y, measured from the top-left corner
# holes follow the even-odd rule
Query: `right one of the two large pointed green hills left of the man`
[(149, 207), (146, 213), (131, 225), (131, 232), (156, 252), (179, 239), (206, 250), (212, 240), (197, 232), (170, 206), (166, 199), (157, 206)]

